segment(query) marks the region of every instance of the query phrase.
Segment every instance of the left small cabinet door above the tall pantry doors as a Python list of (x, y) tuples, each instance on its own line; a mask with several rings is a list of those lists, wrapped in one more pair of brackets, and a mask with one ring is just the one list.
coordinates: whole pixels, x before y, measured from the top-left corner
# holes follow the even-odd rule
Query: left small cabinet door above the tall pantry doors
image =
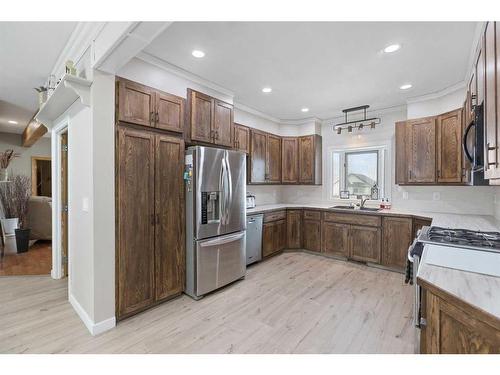
[(118, 80), (118, 121), (154, 126), (155, 91), (147, 86)]

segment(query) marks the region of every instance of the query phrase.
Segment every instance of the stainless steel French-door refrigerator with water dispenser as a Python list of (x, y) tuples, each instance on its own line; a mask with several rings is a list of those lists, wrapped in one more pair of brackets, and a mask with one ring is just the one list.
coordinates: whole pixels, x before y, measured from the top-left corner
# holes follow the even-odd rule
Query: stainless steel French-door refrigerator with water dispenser
[(246, 156), (186, 150), (186, 294), (195, 299), (245, 276)]

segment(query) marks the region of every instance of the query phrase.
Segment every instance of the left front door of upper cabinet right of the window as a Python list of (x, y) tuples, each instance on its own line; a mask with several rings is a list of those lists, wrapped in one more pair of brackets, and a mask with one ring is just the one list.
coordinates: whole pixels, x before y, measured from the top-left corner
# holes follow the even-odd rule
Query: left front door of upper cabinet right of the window
[(436, 121), (426, 117), (408, 121), (408, 182), (436, 182)]

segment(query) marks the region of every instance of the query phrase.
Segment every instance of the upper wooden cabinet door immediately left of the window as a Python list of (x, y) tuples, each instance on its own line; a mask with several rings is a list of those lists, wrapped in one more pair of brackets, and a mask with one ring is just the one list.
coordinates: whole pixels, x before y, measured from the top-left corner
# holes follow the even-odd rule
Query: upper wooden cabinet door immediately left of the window
[(302, 136), (299, 140), (299, 184), (321, 185), (321, 136)]

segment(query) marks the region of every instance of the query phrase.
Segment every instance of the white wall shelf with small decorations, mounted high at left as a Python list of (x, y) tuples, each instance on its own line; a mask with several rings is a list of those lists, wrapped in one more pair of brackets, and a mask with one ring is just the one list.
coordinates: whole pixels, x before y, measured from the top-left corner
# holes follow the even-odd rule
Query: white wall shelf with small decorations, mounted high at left
[(65, 74), (52, 95), (35, 115), (35, 118), (48, 129), (51, 129), (54, 125), (53, 122), (75, 101), (80, 100), (84, 106), (90, 106), (91, 86), (92, 81), (88, 79)]

